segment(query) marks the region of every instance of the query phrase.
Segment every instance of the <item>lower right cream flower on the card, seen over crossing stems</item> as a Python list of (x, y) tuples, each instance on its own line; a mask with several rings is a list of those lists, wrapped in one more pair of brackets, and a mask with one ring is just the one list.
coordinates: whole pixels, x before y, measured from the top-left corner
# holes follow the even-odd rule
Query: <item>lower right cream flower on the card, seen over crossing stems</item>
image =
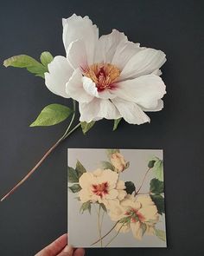
[(119, 221), (116, 230), (122, 233), (133, 233), (141, 240), (143, 234), (154, 234), (155, 225), (159, 219), (157, 208), (149, 195), (139, 195), (135, 198), (128, 194), (119, 203), (112, 203), (109, 215), (113, 221)]

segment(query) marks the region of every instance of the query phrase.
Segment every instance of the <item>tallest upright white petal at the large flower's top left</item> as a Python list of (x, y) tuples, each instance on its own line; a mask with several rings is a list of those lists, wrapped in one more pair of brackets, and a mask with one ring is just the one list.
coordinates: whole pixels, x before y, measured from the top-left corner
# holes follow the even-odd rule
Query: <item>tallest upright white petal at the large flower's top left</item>
[(73, 16), (62, 19), (63, 24), (63, 43), (67, 52), (68, 46), (75, 40), (85, 43), (87, 62), (92, 64), (95, 44), (99, 39), (99, 30), (88, 16)]

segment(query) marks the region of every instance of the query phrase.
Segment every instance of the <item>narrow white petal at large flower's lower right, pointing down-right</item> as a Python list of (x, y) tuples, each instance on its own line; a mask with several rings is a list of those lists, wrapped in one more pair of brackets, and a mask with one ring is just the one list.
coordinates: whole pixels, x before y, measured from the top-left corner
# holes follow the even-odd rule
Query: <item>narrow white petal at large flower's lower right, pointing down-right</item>
[(122, 115), (125, 121), (132, 124), (150, 122), (150, 117), (136, 103), (127, 102), (120, 98), (113, 99), (112, 103), (118, 108), (120, 115)]

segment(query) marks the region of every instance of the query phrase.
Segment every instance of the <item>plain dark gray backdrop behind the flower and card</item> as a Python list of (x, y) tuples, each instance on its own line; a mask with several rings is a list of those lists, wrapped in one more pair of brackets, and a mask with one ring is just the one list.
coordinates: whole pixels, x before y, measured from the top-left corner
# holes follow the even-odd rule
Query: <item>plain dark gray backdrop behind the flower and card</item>
[[(64, 55), (61, 18), (73, 12), (92, 18), (100, 33), (124, 31), (133, 42), (163, 49), (165, 108), (151, 123), (99, 121), (84, 136), (78, 130), (38, 171), (0, 204), (0, 255), (29, 256), (67, 230), (67, 148), (163, 148), (167, 249), (107, 249), (86, 255), (203, 255), (203, 1), (1, 1), (0, 58)], [(41, 78), (22, 69), (0, 69), (0, 194), (27, 174), (67, 127), (29, 128), (41, 108), (68, 104)], [(88, 232), (88, 230), (87, 230)], [(79, 234), (80, 235), (80, 234)], [(88, 233), (87, 233), (88, 235)]]

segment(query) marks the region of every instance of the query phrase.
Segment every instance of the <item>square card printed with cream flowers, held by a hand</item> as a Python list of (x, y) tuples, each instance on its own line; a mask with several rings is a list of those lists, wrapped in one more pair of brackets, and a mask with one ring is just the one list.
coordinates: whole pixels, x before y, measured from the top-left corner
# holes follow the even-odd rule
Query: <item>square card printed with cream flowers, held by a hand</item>
[(76, 247), (166, 247), (163, 150), (68, 149)]

